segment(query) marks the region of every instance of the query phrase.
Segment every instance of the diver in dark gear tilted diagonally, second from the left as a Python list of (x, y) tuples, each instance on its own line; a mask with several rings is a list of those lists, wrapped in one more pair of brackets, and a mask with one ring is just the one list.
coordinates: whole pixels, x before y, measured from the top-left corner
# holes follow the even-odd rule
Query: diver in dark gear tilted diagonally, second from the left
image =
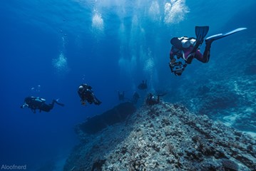
[(86, 105), (86, 100), (88, 101), (88, 103), (92, 104), (96, 104), (96, 105), (101, 105), (101, 101), (98, 100), (98, 98), (95, 97), (95, 95), (93, 94), (93, 90), (91, 86), (88, 86), (87, 84), (81, 84), (78, 87), (78, 95), (81, 98), (81, 104), (82, 105)]

